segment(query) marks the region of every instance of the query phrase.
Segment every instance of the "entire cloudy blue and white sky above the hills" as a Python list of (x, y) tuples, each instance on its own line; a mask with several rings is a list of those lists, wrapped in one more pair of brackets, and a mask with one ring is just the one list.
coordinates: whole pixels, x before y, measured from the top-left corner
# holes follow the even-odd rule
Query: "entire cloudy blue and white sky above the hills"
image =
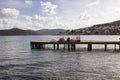
[(0, 29), (79, 29), (120, 20), (120, 0), (0, 0)]

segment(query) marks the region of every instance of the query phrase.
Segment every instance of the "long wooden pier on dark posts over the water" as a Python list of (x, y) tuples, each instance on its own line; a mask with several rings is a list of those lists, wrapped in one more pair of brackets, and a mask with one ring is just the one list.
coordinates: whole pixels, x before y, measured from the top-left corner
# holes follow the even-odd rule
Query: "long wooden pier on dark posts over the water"
[(31, 41), (31, 49), (44, 49), (45, 45), (51, 44), (53, 45), (53, 50), (59, 50), (59, 45), (64, 45), (64, 49), (69, 50), (76, 50), (76, 45), (81, 45), (81, 44), (86, 44), (87, 45), (87, 50), (92, 51), (92, 45), (97, 44), (97, 45), (104, 45), (104, 50), (107, 51), (107, 45), (112, 44), (114, 45), (114, 49), (116, 50), (116, 45), (119, 45), (119, 50), (120, 50), (120, 41), (98, 41), (98, 40), (83, 40), (80, 42), (50, 42), (50, 41)]

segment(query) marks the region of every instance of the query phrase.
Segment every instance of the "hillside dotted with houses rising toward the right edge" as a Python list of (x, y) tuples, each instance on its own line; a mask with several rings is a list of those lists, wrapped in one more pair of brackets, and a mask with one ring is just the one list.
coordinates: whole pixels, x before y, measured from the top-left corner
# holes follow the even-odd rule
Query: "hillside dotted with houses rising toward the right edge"
[(111, 23), (97, 24), (87, 28), (66, 30), (66, 35), (120, 35), (120, 20)]

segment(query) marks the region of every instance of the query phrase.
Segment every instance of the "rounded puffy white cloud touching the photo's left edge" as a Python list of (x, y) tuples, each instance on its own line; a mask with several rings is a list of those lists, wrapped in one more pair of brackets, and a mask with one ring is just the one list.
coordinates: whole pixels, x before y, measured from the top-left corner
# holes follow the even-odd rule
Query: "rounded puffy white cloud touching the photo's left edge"
[(3, 8), (0, 10), (0, 18), (17, 18), (19, 10), (15, 8)]

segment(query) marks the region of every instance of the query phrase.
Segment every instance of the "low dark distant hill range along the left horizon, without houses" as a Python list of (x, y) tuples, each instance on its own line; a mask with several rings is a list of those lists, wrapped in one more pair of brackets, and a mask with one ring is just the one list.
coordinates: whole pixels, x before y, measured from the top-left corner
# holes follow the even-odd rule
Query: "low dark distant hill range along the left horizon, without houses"
[(22, 30), (18, 28), (0, 30), (0, 35), (57, 35), (59, 32), (64, 32), (64, 29), (41, 29), (38, 31)]

